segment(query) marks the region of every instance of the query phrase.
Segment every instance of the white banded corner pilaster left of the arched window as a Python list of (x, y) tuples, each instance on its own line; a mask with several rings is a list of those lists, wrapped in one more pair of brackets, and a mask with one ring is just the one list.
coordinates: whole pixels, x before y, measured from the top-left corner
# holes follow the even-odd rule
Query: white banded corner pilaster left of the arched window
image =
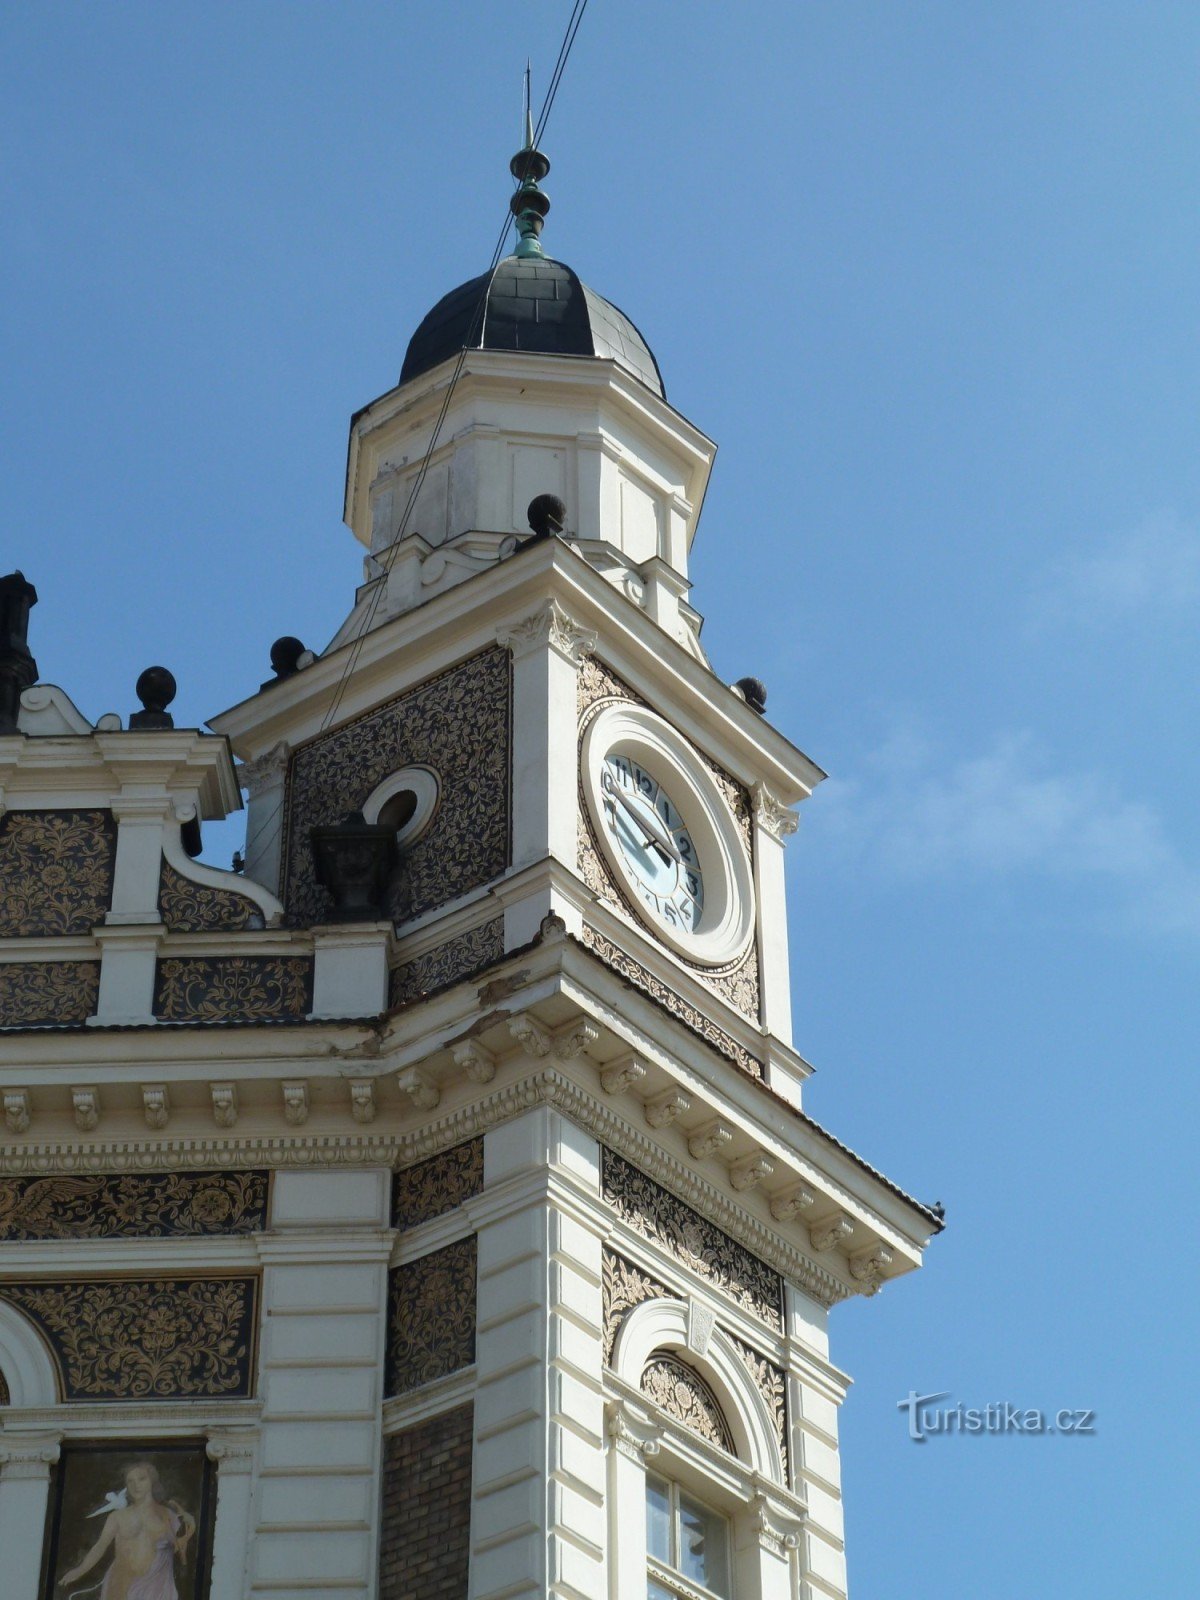
[[(603, 1595), (598, 1146), (541, 1107), (485, 1139), (470, 1600)], [(645, 1576), (643, 1576), (645, 1582)]]

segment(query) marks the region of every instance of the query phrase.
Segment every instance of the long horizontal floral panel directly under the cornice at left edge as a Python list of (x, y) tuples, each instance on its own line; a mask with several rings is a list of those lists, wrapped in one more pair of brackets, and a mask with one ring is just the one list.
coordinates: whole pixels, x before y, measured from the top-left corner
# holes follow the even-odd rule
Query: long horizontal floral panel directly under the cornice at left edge
[(267, 1173), (0, 1178), (0, 1242), (189, 1238), (267, 1226)]

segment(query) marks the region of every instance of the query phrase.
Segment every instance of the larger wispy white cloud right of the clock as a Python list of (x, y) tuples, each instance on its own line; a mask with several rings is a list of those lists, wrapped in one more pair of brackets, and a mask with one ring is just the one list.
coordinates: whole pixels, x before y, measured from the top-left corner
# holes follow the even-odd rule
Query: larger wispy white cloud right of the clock
[(1091, 882), (1125, 925), (1200, 934), (1200, 869), (1158, 811), (1117, 782), (1051, 770), (1027, 733), (947, 762), (904, 728), (859, 778), (821, 786), (814, 822), (842, 854), (893, 880)]

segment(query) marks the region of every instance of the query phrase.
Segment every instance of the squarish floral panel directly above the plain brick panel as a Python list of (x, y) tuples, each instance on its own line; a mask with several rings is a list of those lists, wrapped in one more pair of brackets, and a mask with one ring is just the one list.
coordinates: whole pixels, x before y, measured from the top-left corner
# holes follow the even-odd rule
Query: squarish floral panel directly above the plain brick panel
[(403, 1395), (475, 1360), (475, 1235), (389, 1272), (384, 1394)]

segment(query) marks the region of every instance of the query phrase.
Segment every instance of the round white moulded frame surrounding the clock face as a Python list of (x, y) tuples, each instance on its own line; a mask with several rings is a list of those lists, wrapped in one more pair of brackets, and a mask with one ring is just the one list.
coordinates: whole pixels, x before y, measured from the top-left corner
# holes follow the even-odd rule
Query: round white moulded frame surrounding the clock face
[[(754, 872), (738, 821), (707, 765), (677, 728), (640, 706), (605, 706), (582, 738), (584, 798), (610, 872), (642, 922), (670, 949), (701, 966), (739, 960), (754, 936)], [(608, 763), (640, 766), (683, 819), (702, 877), (696, 926), (672, 922), (646, 904), (643, 883), (614, 835), (614, 806), (605, 789)]]

